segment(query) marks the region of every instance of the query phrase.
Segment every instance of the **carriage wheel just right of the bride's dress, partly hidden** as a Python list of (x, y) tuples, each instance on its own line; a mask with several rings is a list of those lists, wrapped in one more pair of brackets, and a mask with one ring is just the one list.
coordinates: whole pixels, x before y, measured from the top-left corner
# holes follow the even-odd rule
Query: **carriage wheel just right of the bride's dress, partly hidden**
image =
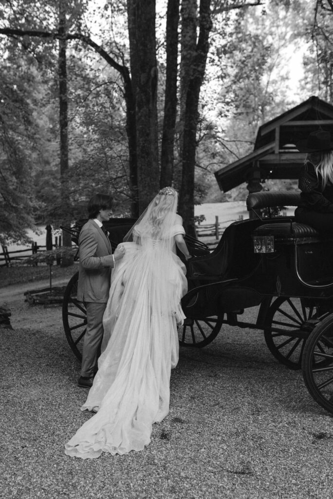
[(221, 329), (223, 314), (192, 319), (186, 317), (184, 324), (178, 327), (178, 338), (180, 346), (194, 346), (202, 348), (216, 338)]

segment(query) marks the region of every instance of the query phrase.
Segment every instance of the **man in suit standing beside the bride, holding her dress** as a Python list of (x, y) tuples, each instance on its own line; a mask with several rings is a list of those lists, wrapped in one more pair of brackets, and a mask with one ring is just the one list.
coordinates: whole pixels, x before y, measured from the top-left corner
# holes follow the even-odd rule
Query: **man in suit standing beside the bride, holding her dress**
[(111, 243), (103, 227), (112, 216), (113, 199), (95, 194), (88, 203), (89, 220), (79, 235), (78, 301), (87, 310), (87, 328), (83, 340), (81, 376), (78, 386), (90, 388), (97, 369), (103, 338), (103, 314), (109, 298), (111, 268), (125, 254), (123, 247), (112, 254)]

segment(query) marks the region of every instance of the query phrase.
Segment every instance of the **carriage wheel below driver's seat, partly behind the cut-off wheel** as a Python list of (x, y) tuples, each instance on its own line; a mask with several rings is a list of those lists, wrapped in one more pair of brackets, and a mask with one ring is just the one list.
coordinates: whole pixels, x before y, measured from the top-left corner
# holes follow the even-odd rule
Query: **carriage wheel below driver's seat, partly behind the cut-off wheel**
[(305, 342), (317, 320), (317, 308), (301, 298), (280, 296), (268, 310), (264, 329), (266, 344), (276, 359), (300, 369)]

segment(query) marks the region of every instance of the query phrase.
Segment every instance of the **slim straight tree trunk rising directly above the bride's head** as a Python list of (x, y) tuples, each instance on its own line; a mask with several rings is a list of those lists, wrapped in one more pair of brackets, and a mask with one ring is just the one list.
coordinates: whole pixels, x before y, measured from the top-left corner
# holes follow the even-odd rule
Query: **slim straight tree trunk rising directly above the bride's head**
[(173, 148), (177, 113), (177, 56), (179, 0), (168, 0), (166, 13), (166, 90), (161, 150), (160, 187), (173, 180)]

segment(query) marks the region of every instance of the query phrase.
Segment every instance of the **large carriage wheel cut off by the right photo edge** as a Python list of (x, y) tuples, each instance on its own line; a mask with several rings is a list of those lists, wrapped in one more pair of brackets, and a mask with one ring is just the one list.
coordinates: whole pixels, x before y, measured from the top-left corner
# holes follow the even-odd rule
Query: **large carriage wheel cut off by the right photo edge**
[(333, 315), (322, 320), (312, 331), (302, 359), (304, 382), (310, 394), (333, 413)]

